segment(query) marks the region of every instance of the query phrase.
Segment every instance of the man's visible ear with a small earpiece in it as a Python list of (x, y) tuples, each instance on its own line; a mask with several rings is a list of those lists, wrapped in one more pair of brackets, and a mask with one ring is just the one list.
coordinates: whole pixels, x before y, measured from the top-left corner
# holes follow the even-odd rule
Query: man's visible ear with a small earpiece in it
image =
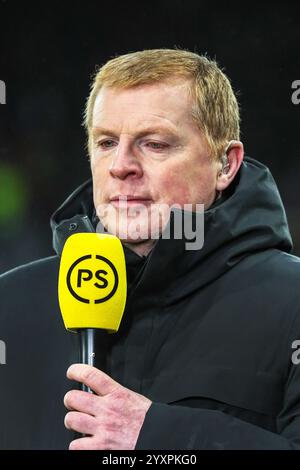
[(235, 175), (239, 171), (244, 158), (244, 146), (239, 140), (232, 140), (229, 148), (226, 151), (228, 159), (228, 169), (226, 172), (222, 171), (222, 163), (218, 164), (218, 173), (216, 181), (216, 190), (223, 191), (234, 180)]

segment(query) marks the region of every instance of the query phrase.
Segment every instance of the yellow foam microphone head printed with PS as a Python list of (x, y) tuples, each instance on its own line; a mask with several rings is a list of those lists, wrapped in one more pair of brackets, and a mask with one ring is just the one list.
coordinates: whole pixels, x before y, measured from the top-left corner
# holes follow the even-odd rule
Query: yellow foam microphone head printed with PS
[(61, 255), (58, 300), (68, 330), (119, 329), (126, 304), (126, 264), (114, 235), (76, 233)]

